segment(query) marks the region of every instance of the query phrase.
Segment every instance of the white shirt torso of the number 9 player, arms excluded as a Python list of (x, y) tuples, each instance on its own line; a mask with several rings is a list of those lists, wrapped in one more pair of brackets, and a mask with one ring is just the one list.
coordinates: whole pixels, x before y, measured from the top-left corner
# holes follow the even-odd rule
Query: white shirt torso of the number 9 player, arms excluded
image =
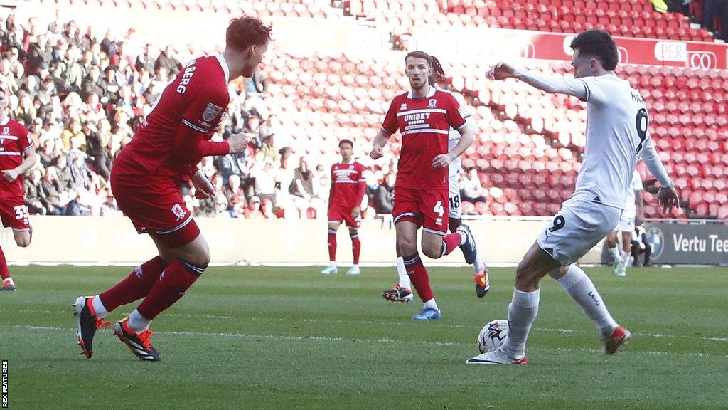
[(644, 99), (616, 75), (579, 81), (587, 90), (587, 142), (574, 197), (624, 209), (637, 161), (649, 140)]

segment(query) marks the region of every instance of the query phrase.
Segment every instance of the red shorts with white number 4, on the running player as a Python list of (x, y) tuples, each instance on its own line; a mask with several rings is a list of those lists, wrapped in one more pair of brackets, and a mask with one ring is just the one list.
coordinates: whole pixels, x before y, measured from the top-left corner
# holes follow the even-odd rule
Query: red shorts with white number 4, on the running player
[(395, 223), (419, 223), (423, 231), (445, 236), (448, 233), (448, 188), (419, 189), (395, 187)]

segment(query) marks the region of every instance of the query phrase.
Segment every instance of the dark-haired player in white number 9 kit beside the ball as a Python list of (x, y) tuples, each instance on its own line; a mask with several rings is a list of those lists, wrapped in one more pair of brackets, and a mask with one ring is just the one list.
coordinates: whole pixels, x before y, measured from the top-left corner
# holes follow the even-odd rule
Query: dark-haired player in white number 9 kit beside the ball
[(631, 334), (612, 319), (596, 287), (574, 261), (619, 222), (640, 156), (660, 182), (657, 198), (663, 212), (678, 204), (675, 188), (649, 138), (644, 99), (614, 74), (618, 54), (612, 37), (601, 30), (585, 31), (574, 37), (571, 48), (574, 79), (514, 69), (506, 63), (498, 63), (488, 71), (492, 80), (513, 77), (548, 93), (566, 93), (587, 101), (587, 142), (574, 196), (563, 203), (516, 268), (505, 343), (466, 363), (528, 362), (526, 339), (539, 309), (539, 282), (546, 275), (556, 279), (595, 322), (604, 352), (617, 352)]

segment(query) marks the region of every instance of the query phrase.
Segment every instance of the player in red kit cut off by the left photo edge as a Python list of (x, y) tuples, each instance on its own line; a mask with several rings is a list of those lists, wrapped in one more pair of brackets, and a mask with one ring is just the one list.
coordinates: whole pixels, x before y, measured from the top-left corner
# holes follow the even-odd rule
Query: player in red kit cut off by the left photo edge
[[(5, 228), (12, 228), (19, 247), (31, 244), (31, 225), (25, 206), (23, 174), (36, 163), (36, 150), (28, 130), (7, 115), (7, 94), (0, 88), (0, 217)], [(5, 253), (0, 249), (0, 290), (15, 290), (7, 269)]]

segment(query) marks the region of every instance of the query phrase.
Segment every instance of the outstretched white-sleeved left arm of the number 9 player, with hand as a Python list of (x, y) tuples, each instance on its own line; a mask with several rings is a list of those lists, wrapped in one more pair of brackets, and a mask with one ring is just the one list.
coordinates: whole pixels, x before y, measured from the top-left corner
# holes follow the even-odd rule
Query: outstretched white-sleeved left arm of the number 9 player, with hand
[(516, 69), (507, 63), (497, 63), (486, 74), (491, 80), (515, 78), (547, 93), (563, 93), (582, 101), (587, 99), (587, 88), (584, 82), (575, 78), (553, 77), (526, 69)]

